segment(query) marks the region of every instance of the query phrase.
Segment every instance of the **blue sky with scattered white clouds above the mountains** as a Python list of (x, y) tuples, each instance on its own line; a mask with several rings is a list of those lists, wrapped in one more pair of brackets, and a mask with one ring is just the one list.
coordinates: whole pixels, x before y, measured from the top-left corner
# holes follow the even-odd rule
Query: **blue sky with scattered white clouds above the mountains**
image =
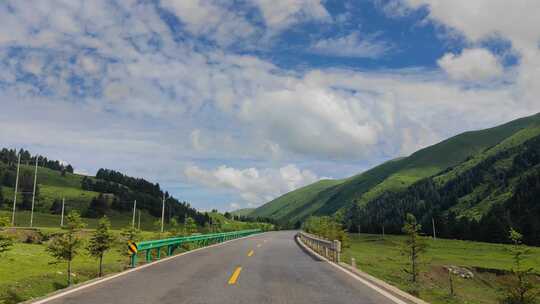
[(259, 206), (540, 111), (540, 4), (0, 3), (0, 140)]

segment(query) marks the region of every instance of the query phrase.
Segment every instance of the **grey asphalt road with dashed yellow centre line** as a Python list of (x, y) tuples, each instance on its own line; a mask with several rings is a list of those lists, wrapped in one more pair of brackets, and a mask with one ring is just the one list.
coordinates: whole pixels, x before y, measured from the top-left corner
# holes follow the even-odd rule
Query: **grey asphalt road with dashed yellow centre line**
[(270, 232), (175, 257), (47, 303), (393, 302), (306, 254), (294, 232)]

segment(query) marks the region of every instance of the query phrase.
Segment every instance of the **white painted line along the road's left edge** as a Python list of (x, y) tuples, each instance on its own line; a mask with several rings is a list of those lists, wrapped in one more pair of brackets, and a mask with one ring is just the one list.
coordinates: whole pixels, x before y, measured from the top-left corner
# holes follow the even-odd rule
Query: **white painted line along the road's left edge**
[(187, 255), (187, 254), (190, 254), (190, 253), (193, 253), (193, 252), (201, 251), (201, 250), (204, 250), (204, 249), (210, 249), (210, 248), (213, 248), (213, 247), (223, 246), (223, 245), (228, 244), (228, 243), (230, 243), (230, 242), (239, 241), (239, 240), (243, 240), (243, 239), (246, 239), (246, 238), (250, 238), (250, 237), (254, 237), (254, 236), (258, 236), (258, 235), (262, 235), (262, 234), (264, 234), (264, 232), (263, 232), (263, 233), (259, 233), (259, 234), (248, 235), (248, 236), (241, 237), (241, 238), (234, 239), (234, 240), (225, 241), (225, 242), (223, 242), (223, 243), (218, 243), (218, 244), (214, 244), (214, 245), (210, 245), (210, 246), (206, 246), (206, 247), (197, 248), (197, 249), (194, 249), (194, 250), (191, 250), (191, 251), (186, 251), (186, 252), (183, 252), (183, 253), (180, 253), (180, 254), (177, 254), (177, 255), (173, 255), (173, 256), (170, 256), (170, 257), (166, 257), (166, 258), (163, 258), (163, 259), (160, 259), (160, 260), (157, 260), (157, 261), (148, 263), (148, 264), (144, 264), (144, 265), (139, 266), (139, 267), (135, 267), (135, 268), (131, 268), (131, 269), (129, 269), (129, 270), (125, 270), (125, 271), (119, 272), (119, 273), (117, 273), (117, 274), (114, 274), (114, 275), (105, 277), (105, 278), (103, 278), (103, 279), (101, 279), (101, 280), (97, 280), (97, 281), (94, 281), (94, 282), (91, 282), (91, 283), (88, 283), (88, 284), (82, 283), (83, 285), (81, 285), (81, 286), (79, 286), (79, 287), (75, 287), (75, 288), (73, 288), (73, 289), (69, 289), (69, 290), (66, 290), (66, 291), (64, 291), (64, 292), (60, 292), (60, 293), (58, 293), (58, 294), (55, 294), (55, 295), (46, 297), (46, 298), (44, 298), (44, 299), (38, 299), (38, 300), (36, 300), (36, 301), (34, 301), (34, 302), (28, 301), (28, 302), (24, 302), (24, 303), (31, 303), (31, 304), (43, 304), (43, 303), (47, 303), (47, 302), (50, 302), (50, 301), (52, 301), (52, 300), (56, 300), (56, 299), (58, 299), (58, 298), (67, 296), (67, 295), (69, 295), (69, 294), (75, 293), (75, 292), (80, 291), (80, 290), (83, 290), (83, 289), (85, 289), (85, 288), (88, 288), (88, 287), (92, 287), (92, 286), (95, 286), (95, 285), (98, 285), (98, 284), (105, 283), (105, 282), (107, 282), (107, 281), (110, 281), (110, 280), (116, 279), (116, 278), (118, 278), (118, 277), (124, 276), (124, 275), (126, 275), (126, 274), (128, 274), (128, 273), (132, 273), (132, 272), (135, 272), (135, 271), (138, 271), (138, 270), (141, 270), (141, 269), (144, 269), (144, 268), (153, 266), (153, 265), (157, 265), (157, 264), (159, 264), (159, 263), (166, 262), (166, 261), (172, 260), (172, 259), (174, 259), (174, 258), (178, 258), (178, 257), (184, 256), (184, 255)]

